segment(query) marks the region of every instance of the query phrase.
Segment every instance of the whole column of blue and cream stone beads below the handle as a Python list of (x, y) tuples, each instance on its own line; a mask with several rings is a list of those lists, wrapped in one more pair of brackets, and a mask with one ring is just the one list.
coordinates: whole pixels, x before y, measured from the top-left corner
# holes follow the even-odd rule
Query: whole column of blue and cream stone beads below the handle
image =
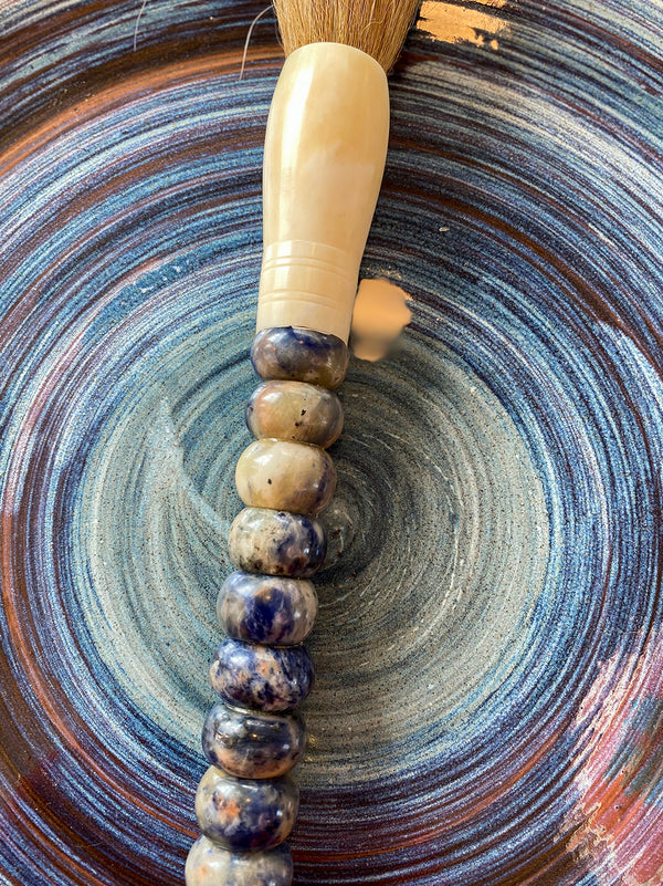
[(346, 344), (292, 326), (262, 330), (251, 358), (263, 379), (246, 407), (256, 438), (236, 466), (248, 507), (235, 518), (229, 554), (238, 572), (218, 601), (228, 635), (210, 677), (221, 701), (202, 732), (210, 768), (196, 796), (202, 836), (187, 861), (188, 886), (290, 886), (284, 841), (297, 814), (290, 770), (306, 742), (294, 710), (314, 668), (302, 646), (317, 612), (311, 576), (326, 553), (316, 519), (336, 488), (325, 451), (343, 428), (333, 393), (348, 365)]

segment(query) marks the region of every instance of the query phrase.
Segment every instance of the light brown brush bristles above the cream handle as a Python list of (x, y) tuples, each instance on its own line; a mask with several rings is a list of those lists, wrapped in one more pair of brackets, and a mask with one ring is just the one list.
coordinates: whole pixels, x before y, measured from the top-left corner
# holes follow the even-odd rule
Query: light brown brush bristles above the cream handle
[(421, 0), (273, 0), (285, 54), (307, 43), (346, 43), (389, 71)]

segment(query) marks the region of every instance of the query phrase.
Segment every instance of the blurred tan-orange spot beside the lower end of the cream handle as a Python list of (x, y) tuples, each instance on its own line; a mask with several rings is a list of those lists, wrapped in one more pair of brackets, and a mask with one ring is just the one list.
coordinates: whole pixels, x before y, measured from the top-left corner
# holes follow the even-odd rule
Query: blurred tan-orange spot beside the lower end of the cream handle
[(359, 359), (380, 359), (412, 319), (411, 301), (389, 280), (362, 280), (352, 312), (351, 346)]

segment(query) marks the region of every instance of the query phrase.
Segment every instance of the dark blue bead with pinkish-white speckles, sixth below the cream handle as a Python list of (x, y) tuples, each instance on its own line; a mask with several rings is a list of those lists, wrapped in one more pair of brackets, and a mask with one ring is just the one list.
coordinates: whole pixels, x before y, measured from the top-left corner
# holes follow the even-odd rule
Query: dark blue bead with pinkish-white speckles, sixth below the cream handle
[(314, 667), (304, 646), (257, 646), (224, 639), (212, 664), (212, 687), (224, 701), (267, 713), (291, 710), (304, 701)]

